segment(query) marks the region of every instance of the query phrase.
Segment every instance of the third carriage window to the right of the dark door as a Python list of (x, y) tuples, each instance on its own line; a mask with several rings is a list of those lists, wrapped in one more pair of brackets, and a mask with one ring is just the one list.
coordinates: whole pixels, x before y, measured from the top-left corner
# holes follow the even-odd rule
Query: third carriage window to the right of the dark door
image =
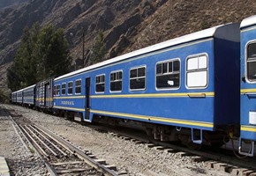
[(130, 70), (130, 90), (146, 89), (146, 67), (139, 67)]

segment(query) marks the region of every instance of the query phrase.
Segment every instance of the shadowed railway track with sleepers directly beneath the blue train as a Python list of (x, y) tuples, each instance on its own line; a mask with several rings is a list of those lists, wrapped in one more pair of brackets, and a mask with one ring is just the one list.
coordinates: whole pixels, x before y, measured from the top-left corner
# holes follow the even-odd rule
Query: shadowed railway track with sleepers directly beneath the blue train
[(178, 144), (163, 143), (147, 137), (144, 131), (134, 133), (134, 128), (106, 128), (87, 124), (91, 128), (108, 131), (112, 136), (131, 140), (133, 143), (144, 143), (148, 148), (164, 150), (169, 153), (177, 153), (183, 157), (192, 158), (193, 162), (203, 162), (207, 169), (226, 172), (231, 175), (256, 175), (256, 158), (237, 158), (232, 150), (204, 148), (191, 150)]

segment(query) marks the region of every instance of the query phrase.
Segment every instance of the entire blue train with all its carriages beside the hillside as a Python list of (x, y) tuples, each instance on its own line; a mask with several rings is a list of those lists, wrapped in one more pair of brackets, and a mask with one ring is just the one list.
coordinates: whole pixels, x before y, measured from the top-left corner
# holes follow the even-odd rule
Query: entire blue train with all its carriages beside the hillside
[[(77, 121), (137, 121), (156, 140), (256, 141), (256, 16), (117, 56), (18, 92), (14, 103)], [(245, 145), (250, 145), (246, 150)]]

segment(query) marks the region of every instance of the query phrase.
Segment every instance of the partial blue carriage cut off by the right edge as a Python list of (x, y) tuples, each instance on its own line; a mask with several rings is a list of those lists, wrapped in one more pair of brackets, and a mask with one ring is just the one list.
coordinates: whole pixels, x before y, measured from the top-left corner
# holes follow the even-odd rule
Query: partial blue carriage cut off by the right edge
[[(253, 156), (256, 141), (256, 16), (241, 23), (241, 136), (239, 152)], [(249, 150), (243, 143), (250, 143)]]

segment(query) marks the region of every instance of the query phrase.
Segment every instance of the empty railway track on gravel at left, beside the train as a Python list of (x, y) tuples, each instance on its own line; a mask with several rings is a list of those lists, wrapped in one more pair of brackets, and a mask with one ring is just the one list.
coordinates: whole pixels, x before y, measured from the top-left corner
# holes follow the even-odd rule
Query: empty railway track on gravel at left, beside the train
[[(19, 118), (12, 118), (11, 115), (9, 117), (24, 143), (27, 143), (29, 150), (42, 159), (51, 175), (116, 176), (126, 174), (126, 172), (117, 172), (115, 165), (107, 165), (105, 160), (96, 158), (89, 151), (80, 150), (49, 129), (31, 124), (22, 115), (16, 115)], [(19, 120), (15, 121), (17, 119)]]

